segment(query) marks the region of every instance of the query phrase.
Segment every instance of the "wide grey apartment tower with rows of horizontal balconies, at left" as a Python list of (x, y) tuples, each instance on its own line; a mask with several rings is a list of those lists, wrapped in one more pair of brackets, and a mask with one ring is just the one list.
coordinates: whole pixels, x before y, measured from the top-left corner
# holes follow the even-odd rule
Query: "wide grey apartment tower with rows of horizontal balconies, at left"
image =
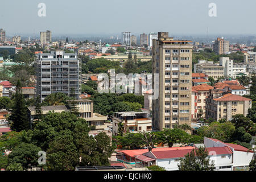
[(79, 98), (80, 66), (77, 53), (40, 53), (36, 60), (36, 93), (40, 100), (43, 101), (49, 94), (57, 92)]

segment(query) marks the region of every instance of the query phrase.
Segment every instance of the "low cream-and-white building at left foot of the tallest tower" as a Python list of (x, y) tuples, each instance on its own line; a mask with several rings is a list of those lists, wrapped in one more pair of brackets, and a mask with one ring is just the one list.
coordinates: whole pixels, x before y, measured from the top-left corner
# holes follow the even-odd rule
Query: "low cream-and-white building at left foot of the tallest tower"
[(147, 112), (117, 112), (113, 115), (113, 135), (118, 135), (118, 123), (123, 123), (123, 133), (149, 132), (152, 120)]

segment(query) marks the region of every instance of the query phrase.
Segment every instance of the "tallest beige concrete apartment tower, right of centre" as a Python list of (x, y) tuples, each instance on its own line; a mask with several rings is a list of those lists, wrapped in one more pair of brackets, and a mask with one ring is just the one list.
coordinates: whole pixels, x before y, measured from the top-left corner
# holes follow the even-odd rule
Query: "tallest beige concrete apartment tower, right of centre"
[(168, 32), (158, 32), (158, 40), (152, 40), (152, 85), (154, 73), (159, 74), (159, 97), (152, 100), (156, 130), (191, 126), (192, 48), (192, 41), (168, 38)]

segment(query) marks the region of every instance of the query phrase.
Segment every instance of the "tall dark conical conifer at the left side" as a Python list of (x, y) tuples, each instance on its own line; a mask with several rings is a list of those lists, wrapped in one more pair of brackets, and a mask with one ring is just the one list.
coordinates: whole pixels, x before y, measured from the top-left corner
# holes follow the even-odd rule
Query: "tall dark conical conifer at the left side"
[(11, 109), (11, 115), (9, 117), (11, 121), (11, 130), (22, 131), (30, 129), (30, 122), (27, 118), (27, 107), (24, 104), (24, 97), (20, 81), (16, 84), (16, 93), (14, 95), (14, 104)]

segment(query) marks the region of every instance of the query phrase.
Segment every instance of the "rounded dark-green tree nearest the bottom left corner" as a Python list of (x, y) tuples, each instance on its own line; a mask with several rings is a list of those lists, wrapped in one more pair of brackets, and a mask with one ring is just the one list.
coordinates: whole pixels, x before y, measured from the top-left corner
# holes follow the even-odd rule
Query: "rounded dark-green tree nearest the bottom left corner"
[(31, 143), (21, 143), (9, 154), (9, 164), (22, 164), (23, 169), (38, 166), (38, 152), (41, 148)]

